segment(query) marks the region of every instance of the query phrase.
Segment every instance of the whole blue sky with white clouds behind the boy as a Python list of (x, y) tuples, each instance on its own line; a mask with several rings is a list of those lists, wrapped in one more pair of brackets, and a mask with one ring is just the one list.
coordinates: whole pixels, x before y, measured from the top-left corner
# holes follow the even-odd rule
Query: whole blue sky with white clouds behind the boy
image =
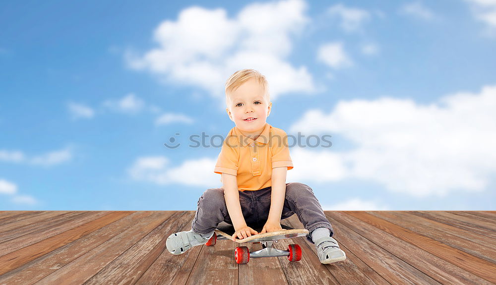
[(0, 210), (195, 210), (220, 148), (188, 137), (234, 126), (243, 68), (269, 124), (332, 136), (287, 179), (325, 210), (495, 210), (494, 1), (3, 1), (0, 25)]

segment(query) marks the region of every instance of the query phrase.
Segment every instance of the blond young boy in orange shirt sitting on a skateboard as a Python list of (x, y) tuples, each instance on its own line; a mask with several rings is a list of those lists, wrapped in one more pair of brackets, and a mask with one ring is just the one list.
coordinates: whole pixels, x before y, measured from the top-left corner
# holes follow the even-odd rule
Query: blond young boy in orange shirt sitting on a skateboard
[(286, 133), (266, 122), (272, 103), (265, 77), (252, 69), (235, 72), (226, 83), (226, 104), (236, 126), (224, 140), (214, 169), (223, 187), (203, 193), (191, 230), (167, 238), (169, 252), (182, 254), (206, 243), (223, 221), (234, 226), (233, 237), (243, 239), (258, 234), (253, 228), (262, 228), (260, 233), (282, 230), (281, 219), (296, 213), (321, 263), (345, 260), (312, 189), (286, 183), (293, 163)]

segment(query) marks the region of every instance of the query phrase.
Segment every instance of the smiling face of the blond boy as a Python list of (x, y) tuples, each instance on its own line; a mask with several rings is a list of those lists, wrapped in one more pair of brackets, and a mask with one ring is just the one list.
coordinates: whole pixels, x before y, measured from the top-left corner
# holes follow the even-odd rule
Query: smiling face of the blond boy
[[(267, 101), (263, 86), (255, 78), (250, 78), (234, 92), (228, 94), (229, 118), (247, 134), (259, 134), (270, 114), (272, 103)], [(254, 120), (247, 120), (255, 118)]]

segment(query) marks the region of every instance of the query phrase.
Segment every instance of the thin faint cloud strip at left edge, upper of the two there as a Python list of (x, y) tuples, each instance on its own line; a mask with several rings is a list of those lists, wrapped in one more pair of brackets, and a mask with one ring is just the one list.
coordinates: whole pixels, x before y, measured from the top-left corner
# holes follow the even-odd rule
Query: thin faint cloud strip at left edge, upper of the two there
[(69, 147), (33, 157), (28, 157), (21, 151), (0, 150), (0, 161), (4, 162), (53, 166), (70, 161), (71, 159), (72, 150)]

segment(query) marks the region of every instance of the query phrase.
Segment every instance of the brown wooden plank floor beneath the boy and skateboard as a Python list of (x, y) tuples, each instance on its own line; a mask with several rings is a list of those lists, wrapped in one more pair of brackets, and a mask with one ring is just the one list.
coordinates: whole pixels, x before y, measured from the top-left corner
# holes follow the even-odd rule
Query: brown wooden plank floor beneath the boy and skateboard
[[(229, 240), (170, 254), (193, 211), (0, 212), (0, 284), (495, 284), (496, 212), (326, 212), (347, 260), (234, 261)], [(302, 228), (296, 215), (283, 224)], [(244, 244), (245, 245), (245, 244)], [(250, 250), (259, 244), (246, 244)]]

